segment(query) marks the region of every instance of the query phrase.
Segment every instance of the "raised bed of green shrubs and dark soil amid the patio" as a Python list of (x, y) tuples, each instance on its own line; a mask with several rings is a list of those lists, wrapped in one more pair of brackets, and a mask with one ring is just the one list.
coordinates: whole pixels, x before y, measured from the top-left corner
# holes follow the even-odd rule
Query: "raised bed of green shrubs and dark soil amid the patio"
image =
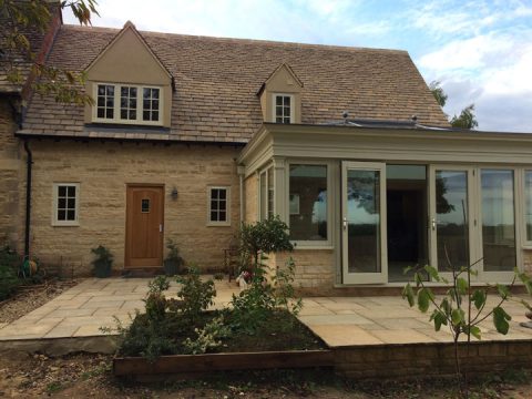
[(144, 299), (145, 313), (136, 311), (129, 327), (119, 323), (117, 355), (154, 360), (162, 355), (324, 348), (296, 317), (303, 303), (291, 285), (293, 259), (267, 278), (264, 253), (291, 249), (287, 226), (278, 218), (244, 225), (241, 241), (249, 255), (246, 267), (252, 270), (252, 282), (233, 295), (228, 307), (207, 310), (214, 304), (215, 286), (212, 280), (202, 280), (194, 266), (177, 277), (176, 299), (165, 296), (167, 277), (156, 277)]

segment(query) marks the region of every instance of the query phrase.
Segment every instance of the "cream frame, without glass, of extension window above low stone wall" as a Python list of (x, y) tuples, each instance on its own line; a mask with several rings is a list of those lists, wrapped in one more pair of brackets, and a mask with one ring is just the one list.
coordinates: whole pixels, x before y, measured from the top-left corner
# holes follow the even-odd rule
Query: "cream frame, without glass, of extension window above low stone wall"
[(290, 166), (291, 165), (316, 165), (316, 166), (326, 166), (327, 167), (327, 239), (290, 239), (296, 249), (334, 249), (334, 239), (335, 228), (337, 224), (334, 221), (334, 207), (332, 201), (336, 197), (336, 185), (334, 184), (332, 173), (334, 173), (334, 163), (324, 162), (323, 160), (289, 160), (286, 163), (286, 188), (285, 188), (285, 207), (287, 211), (286, 224), (290, 227)]

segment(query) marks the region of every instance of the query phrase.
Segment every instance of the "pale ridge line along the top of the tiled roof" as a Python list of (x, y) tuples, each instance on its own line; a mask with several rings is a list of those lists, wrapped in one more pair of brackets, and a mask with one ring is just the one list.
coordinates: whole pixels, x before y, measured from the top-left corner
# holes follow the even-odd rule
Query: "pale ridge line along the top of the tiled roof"
[[(130, 22), (130, 21), (129, 21)], [(109, 27), (80, 27), (75, 24), (63, 24), (62, 28), (66, 29), (76, 29), (76, 30), (84, 30), (84, 31), (96, 31), (96, 32), (117, 32), (122, 29), (120, 28), (109, 28)], [(339, 45), (339, 44), (316, 44), (316, 43), (300, 43), (300, 42), (293, 42), (293, 41), (276, 41), (276, 40), (266, 40), (266, 39), (243, 39), (243, 38), (225, 38), (225, 37), (211, 37), (211, 35), (202, 35), (202, 34), (186, 34), (186, 33), (168, 33), (168, 32), (156, 32), (156, 31), (146, 31), (146, 30), (139, 30), (143, 35), (149, 37), (177, 37), (177, 38), (185, 38), (185, 39), (207, 39), (213, 41), (226, 42), (226, 43), (247, 43), (247, 44), (276, 44), (283, 47), (303, 47), (306, 49), (329, 49), (329, 50), (342, 50), (342, 51), (368, 51), (368, 52), (387, 52), (387, 53), (407, 53), (407, 50), (400, 49), (382, 49), (382, 48), (366, 48), (366, 47), (356, 47), (356, 45)]]

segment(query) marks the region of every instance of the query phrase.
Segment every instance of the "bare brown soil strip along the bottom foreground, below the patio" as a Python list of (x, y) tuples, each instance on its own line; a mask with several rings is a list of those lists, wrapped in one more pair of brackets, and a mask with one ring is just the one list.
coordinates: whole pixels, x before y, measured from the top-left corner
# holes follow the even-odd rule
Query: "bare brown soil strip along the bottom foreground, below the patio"
[[(115, 379), (112, 357), (78, 354), (61, 358), (20, 352), (0, 357), (0, 397), (7, 398), (456, 398), (454, 380), (365, 381), (328, 370), (217, 374), (209, 379), (142, 385)], [(532, 397), (522, 371), (470, 383), (471, 398)]]

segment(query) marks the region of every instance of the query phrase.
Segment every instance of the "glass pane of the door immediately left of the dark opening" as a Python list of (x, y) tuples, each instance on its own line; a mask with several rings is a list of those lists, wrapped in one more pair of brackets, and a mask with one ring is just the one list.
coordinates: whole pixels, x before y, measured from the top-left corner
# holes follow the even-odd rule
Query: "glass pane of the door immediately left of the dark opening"
[(347, 171), (347, 256), (349, 273), (379, 273), (380, 172)]

